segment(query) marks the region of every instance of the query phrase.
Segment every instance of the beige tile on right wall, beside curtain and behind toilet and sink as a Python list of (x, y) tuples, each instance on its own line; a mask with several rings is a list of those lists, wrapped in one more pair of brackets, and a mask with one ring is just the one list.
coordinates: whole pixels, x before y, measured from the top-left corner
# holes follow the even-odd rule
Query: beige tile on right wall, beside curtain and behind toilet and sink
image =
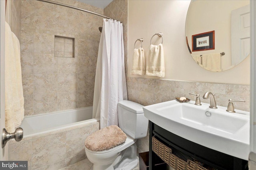
[[(127, 30), (125, 28), (128, 23), (127, 9), (128, 3), (126, 0), (113, 0), (113, 2), (104, 9), (104, 14), (122, 21), (124, 30)], [(125, 57), (127, 57), (127, 31), (124, 31), (124, 37)], [(200, 94), (202, 102), (209, 103), (210, 100), (204, 100), (202, 96), (205, 92), (210, 91), (216, 94), (216, 103), (219, 106), (228, 106), (228, 99), (243, 99), (246, 100), (246, 103), (234, 103), (235, 108), (245, 111), (249, 111), (250, 109), (249, 85), (133, 78), (127, 75), (127, 58), (125, 62), (128, 100), (133, 102), (147, 106), (174, 100), (175, 97), (181, 96), (195, 100), (194, 96), (188, 94), (195, 93)], [(137, 140), (137, 147), (138, 152), (148, 151), (149, 134), (145, 138)]]

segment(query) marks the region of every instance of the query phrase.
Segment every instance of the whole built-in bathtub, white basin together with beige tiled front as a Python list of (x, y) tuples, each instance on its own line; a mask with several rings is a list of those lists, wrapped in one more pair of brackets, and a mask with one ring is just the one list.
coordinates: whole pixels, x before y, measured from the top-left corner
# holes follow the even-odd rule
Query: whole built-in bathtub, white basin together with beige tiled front
[(9, 160), (27, 160), (28, 169), (61, 169), (86, 158), (84, 141), (99, 130), (92, 107), (27, 116), (23, 139), (9, 141)]

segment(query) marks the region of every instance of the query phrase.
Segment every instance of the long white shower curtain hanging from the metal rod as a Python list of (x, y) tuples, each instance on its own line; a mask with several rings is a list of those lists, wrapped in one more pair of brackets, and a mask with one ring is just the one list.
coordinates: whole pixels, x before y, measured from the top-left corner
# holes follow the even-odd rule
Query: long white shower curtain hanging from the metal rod
[(104, 19), (93, 99), (93, 118), (100, 117), (100, 129), (118, 125), (117, 103), (122, 100), (127, 100), (123, 25)]

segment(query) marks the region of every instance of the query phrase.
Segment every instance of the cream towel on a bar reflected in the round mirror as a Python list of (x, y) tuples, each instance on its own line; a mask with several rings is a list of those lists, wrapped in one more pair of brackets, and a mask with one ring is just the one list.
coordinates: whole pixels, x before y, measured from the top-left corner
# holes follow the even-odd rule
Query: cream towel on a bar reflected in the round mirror
[(220, 53), (210, 53), (202, 55), (202, 65), (206, 70), (221, 71)]

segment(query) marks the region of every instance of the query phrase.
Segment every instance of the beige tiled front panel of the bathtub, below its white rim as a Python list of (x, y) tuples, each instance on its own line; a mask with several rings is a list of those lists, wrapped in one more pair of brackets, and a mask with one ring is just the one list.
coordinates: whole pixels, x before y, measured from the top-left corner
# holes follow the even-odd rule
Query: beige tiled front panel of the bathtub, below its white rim
[(86, 158), (84, 141), (99, 122), (25, 137), (9, 144), (8, 160), (27, 160), (28, 170), (58, 170)]

